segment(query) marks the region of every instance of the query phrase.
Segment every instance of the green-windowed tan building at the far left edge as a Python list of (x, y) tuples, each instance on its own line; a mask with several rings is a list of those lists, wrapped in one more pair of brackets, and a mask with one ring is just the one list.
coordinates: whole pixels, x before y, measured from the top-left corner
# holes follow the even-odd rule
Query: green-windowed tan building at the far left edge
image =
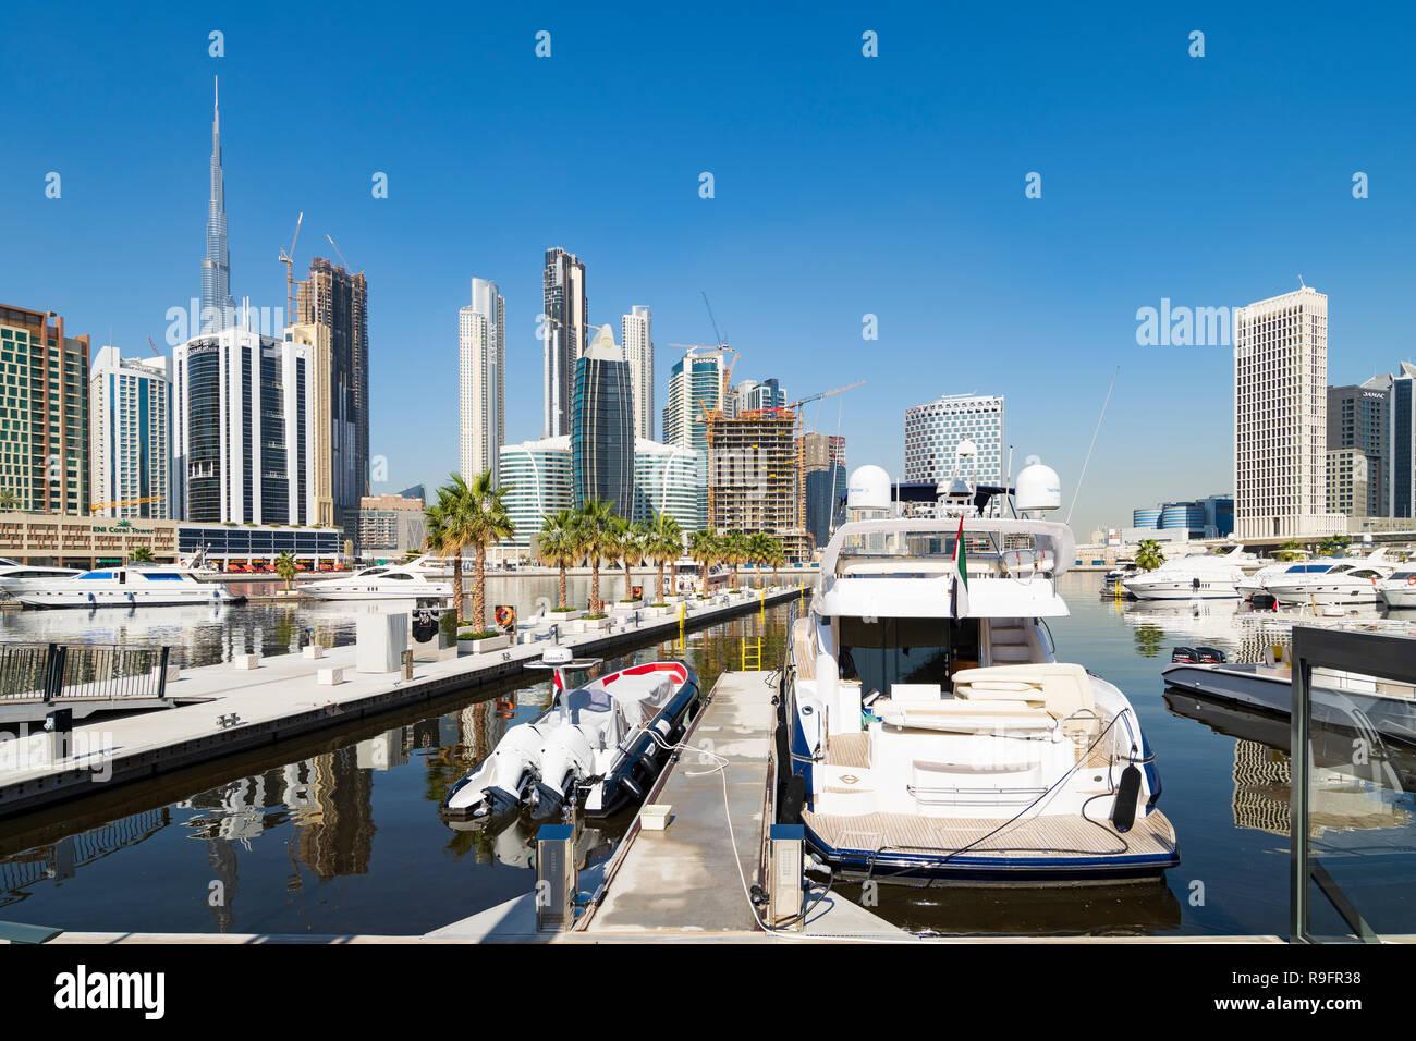
[(20, 510), (88, 516), (88, 355), (54, 312), (0, 305), (0, 490)]

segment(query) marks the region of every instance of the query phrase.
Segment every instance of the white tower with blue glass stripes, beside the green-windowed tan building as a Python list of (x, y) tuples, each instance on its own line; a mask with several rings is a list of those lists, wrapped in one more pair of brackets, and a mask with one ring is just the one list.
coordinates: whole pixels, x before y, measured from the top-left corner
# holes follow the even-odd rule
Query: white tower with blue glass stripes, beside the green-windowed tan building
[(171, 397), (167, 358), (122, 358), (118, 347), (101, 347), (93, 355), (89, 456), (95, 516), (173, 516)]

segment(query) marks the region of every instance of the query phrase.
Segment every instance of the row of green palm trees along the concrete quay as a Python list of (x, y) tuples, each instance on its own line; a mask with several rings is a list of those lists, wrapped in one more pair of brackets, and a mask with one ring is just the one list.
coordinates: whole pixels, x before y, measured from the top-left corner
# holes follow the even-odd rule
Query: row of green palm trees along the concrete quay
[[(425, 511), (428, 552), (452, 558), (452, 602), (457, 622), (463, 622), (462, 555), (473, 550), (472, 615), (479, 630), (487, 627), (486, 562), (487, 547), (515, 534), (503, 496), (508, 487), (497, 487), (491, 473), (480, 473), (472, 483), (460, 474), (438, 489), (438, 501)], [(566, 609), (566, 569), (582, 562), (590, 567), (592, 615), (603, 612), (600, 599), (600, 562), (609, 561), (624, 568), (624, 596), (632, 588), (630, 568), (651, 561), (658, 568), (658, 601), (664, 599), (664, 571), (684, 552), (684, 528), (667, 514), (654, 514), (647, 521), (629, 521), (615, 513), (615, 504), (590, 499), (573, 510), (561, 510), (545, 518), (537, 540), (537, 555), (542, 564), (559, 569), (556, 599)], [(711, 528), (687, 537), (688, 557), (707, 578), (708, 568), (728, 567), (732, 588), (738, 588), (738, 568), (756, 564), (772, 568), (773, 582), (777, 568), (786, 564), (786, 547), (767, 534), (749, 535), (742, 531), (716, 533)]]

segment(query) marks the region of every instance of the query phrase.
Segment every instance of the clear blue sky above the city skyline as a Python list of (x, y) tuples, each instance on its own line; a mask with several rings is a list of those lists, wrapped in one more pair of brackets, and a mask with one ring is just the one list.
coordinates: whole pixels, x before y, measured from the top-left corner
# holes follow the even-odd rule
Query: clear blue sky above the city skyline
[(219, 74), (234, 295), (283, 303), (302, 210), (297, 272), (331, 234), (368, 275), (375, 490), (456, 466), (473, 276), (507, 299), (507, 436), (539, 435), (552, 245), (586, 261), (596, 324), (653, 307), (660, 404), (667, 344), (712, 340), (707, 290), (735, 380), (868, 380), (809, 419), (834, 432), (844, 406), (851, 465), (895, 474), (906, 405), (1001, 392), (1007, 440), (1069, 500), (1120, 365), (1083, 538), (1232, 490), (1231, 353), (1137, 347), (1137, 307), (1242, 305), (1301, 273), (1330, 296), (1331, 381), (1416, 353), (1409, 6), (986, 7), (7, 6), (0, 300), (95, 347), (163, 343), (200, 289)]

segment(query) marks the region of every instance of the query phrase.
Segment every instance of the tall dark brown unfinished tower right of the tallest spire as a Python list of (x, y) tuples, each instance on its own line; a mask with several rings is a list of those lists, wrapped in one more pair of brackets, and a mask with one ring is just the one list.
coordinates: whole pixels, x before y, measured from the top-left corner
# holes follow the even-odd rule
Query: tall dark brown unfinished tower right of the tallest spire
[(334, 523), (368, 494), (368, 282), (320, 256), (299, 286), (300, 323), (330, 337), (329, 423)]

